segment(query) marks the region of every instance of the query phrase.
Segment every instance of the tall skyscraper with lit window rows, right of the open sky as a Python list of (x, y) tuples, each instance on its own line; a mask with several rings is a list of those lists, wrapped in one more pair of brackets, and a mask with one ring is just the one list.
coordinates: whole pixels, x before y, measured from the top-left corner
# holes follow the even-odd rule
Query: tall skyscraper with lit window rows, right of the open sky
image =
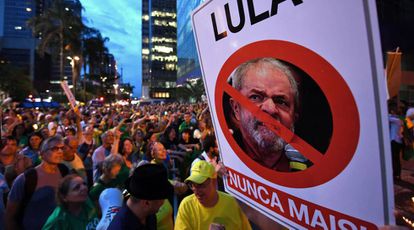
[(175, 0), (142, 1), (142, 96), (173, 99), (177, 80)]

